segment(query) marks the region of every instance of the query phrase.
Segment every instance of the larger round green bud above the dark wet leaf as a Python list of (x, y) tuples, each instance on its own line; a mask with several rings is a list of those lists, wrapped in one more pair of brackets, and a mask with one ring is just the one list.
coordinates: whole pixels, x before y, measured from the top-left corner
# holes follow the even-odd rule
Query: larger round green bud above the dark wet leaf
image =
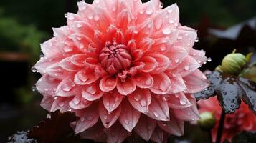
[(242, 71), (242, 68), (245, 66), (246, 58), (243, 54), (232, 53), (228, 54), (222, 60), (222, 66), (220, 67), (223, 73), (225, 74), (234, 74), (238, 75)]

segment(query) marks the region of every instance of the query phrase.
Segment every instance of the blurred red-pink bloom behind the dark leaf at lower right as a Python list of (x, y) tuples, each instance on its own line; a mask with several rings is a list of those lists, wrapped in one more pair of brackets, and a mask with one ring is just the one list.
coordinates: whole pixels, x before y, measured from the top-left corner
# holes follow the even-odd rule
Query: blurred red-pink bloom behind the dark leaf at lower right
[[(212, 97), (207, 100), (200, 100), (198, 104), (200, 113), (214, 113), (216, 124), (212, 129), (212, 142), (216, 142), (219, 119), (222, 114), (222, 108), (219, 106), (217, 97)], [(256, 116), (244, 102), (241, 102), (240, 109), (237, 109), (234, 114), (226, 114), (222, 133), (222, 142), (224, 142), (225, 139), (231, 142), (232, 137), (242, 131), (256, 131)]]

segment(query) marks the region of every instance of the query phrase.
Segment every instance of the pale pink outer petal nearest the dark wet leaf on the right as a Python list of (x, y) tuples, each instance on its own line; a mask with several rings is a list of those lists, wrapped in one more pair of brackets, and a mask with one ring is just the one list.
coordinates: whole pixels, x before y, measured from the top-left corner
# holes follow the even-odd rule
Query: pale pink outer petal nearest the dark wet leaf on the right
[(200, 92), (203, 89), (206, 89), (209, 85), (207, 77), (205, 77), (199, 69), (196, 69), (193, 73), (183, 77), (183, 79), (186, 83), (188, 93)]

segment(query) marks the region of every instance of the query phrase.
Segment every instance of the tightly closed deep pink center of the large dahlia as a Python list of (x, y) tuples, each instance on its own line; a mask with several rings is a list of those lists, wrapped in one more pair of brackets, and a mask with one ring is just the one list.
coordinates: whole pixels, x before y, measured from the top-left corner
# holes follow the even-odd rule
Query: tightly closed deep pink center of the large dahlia
[(117, 44), (115, 41), (105, 42), (100, 51), (100, 63), (109, 74), (116, 74), (131, 66), (132, 57), (124, 44)]

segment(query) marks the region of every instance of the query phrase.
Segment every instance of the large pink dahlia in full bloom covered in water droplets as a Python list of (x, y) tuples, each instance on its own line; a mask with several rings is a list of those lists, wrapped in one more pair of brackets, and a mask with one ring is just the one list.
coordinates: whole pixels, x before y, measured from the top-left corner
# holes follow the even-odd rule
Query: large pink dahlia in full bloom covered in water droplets
[(65, 15), (67, 26), (53, 29), (34, 66), (42, 107), (75, 112), (75, 132), (96, 141), (183, 134), (184, 121), (199, 118), (193, 93), (207, 79), (198, 69), (204, 51), (192, 48), (196, 31), (179, 24), (178, 6), (95, 0), (78, 7)]

